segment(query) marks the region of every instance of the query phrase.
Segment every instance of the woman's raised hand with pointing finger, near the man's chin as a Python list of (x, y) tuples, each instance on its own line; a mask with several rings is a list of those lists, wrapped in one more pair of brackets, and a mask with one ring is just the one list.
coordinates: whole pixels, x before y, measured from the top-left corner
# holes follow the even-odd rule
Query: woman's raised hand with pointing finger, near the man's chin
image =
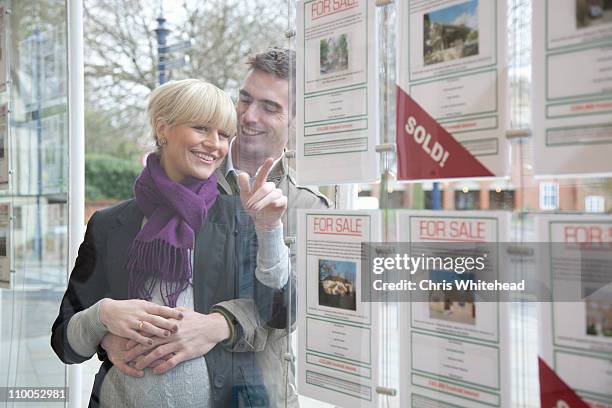
[(238, 175), (240, 201), (257, 229), (279, 226), (281, 216), (287, 209), (287, 196), (274, 183), (266, 182), (273, 164), (274, 160), (266, 159), (257, 171), (252, 187), (247, 173)]

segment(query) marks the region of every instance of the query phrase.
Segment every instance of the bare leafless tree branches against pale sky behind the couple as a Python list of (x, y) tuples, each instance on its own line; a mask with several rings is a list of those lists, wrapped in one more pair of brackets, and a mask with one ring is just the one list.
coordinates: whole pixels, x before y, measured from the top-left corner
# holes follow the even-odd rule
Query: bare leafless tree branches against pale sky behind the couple
[[(85, 76), (89, 151), (113, 149), (107, 140), (137, 140), (144, 134), (143, 111), (148, 94), (157, 86), (157, 42), (154, 29), (159, 13), (153, 0), (85, 0)], [(166, 8), (169, 43), (190, 38), (188, 64), (171, 78), (203, 78), (236, 95), (246, 72), (246, 56), (284, 44), (287, 2), (281, 0), (184, 0)], [(177, 55), (178, 56), (178, 55)], [(170, 56), (172, 57), (172, 56)], [(100, 123), (108, 124), (101, 129)], [(125, 151), (125, 148), (122, 149)], [(107, 153), (117, 153), (107, 151)]]

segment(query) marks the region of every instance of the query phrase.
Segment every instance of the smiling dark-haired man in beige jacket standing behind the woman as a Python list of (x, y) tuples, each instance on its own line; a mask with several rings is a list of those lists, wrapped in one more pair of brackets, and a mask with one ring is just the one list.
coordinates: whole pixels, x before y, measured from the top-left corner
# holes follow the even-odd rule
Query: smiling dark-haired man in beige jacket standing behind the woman
[[(284, 154), (289, 136), (295, 131), (295, 81), (290, 80), (295, 78), (295, 52), (286, 48), (270, 48), (251, 56), (248, 65), (249, 71), (236, 104), (237, 135), (230, 142), (225, 162), (216, 171), (218, 188), (222, 194), (239, 193), (236, 183), (238, 174), (246, 172), (251, 178), (255, 177), (261, 164), (267, 158), (273, 158), (275, 163), (268, 182), (274, 183), (288, 198), (287, 211), (282, 218), (283, 233), (285, 238), (295, 237), (297, 209), (325, 209), (330, 206), (328, 199), (317, 190), (299, 186), (295, 182), (294, 171), (288, 166)], [(290, 245), (291, 270), (294, 274), (296, 251), (296, 246)], [(295, 295), (292, 296), (293, 300)], [(248, 320), (249, 306), (248, 301), (235, 299), (223, 302), (218, 310), (229, 312), (228, 315), (241, 322)], [(293, 304), (293, 307), (296, 305)], [(236, 327), (235, 331), (241, 329)], [(255, 347), (255, 358), (261, 369), (270, 406), (297, 407), (295, 367), (293, 362), (283, 359), (288, 350), (287, 330), (260, 325), (255, 333), (247, 337), (254, 338), (260, 344), (259, 348)]]

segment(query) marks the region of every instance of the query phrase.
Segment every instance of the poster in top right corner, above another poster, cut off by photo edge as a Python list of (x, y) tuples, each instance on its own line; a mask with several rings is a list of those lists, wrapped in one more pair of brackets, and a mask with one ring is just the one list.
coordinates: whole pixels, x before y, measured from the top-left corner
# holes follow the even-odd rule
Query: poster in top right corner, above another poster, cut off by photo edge
[(532, 4), (535, 173), (612, 173), (612, 4)]

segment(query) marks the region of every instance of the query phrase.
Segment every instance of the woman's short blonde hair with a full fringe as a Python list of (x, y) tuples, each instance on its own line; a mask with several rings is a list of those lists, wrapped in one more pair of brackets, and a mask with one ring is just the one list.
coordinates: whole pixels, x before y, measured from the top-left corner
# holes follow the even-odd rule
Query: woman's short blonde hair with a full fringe
[(153, 139), (159, 146), (157, 124), (196, 124), (236, 134), (236, 110), (230, 96), (200, 79), (170, 81), (153, 90), (147, 107)]

